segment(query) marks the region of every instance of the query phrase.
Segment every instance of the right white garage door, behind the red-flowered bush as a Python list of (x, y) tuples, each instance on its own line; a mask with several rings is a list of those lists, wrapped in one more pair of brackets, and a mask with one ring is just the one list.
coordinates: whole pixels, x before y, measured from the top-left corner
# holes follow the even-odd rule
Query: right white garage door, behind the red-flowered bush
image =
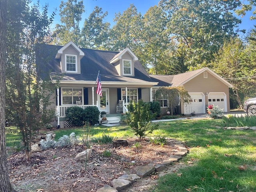
[(227, 102), (225, 93), (209, 93), (208, 94), (208, 104), (209, 105), (218, 105), (220, 109), (223, 109), (223, 112), (227, 112)]

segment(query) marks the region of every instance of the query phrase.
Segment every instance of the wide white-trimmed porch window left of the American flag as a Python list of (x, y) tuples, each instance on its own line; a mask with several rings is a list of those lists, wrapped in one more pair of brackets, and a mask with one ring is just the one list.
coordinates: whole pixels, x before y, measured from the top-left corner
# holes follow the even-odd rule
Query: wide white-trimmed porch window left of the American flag
[(83, 88), (62, 88), (62, 104), (72, 105), (76, 101), (83, 102)]

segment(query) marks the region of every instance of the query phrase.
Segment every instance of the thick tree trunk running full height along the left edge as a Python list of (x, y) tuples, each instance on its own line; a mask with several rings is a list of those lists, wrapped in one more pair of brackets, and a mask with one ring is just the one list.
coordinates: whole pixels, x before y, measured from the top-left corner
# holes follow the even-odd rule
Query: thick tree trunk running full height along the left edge
[(0, 191), (13, 192), (8, 175), (5, 143), (5, 66), (7, 1), (0, 0)]

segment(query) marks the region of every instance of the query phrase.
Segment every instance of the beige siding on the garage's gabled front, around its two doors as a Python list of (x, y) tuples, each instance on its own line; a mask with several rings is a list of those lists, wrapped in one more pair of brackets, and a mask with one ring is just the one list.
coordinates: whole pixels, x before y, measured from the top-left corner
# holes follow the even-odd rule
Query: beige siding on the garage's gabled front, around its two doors
[[(199, 74), (189, 82), (184, 84), (184, 88), (188, 92), (194, 93), (203, 93), (205, 95), (205, 105), (208, 106), (208, 97), (206, 93), (210, 92), (224, 92), (227, 98), (227, 110), (230, 111), (230, 102), (229, 102), (229, 89), (226, 84), (218, 80), (212, 74), (208, 72), (208, 78), (204, 78), (204, 73)], [(184, 105), (181, 106), (182, 113), (184, 113)]]

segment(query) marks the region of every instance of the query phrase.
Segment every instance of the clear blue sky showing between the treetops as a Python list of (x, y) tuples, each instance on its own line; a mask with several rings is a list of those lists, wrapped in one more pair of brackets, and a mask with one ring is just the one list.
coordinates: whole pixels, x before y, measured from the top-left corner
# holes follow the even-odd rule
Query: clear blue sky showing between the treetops
[[(37, 0), (32, 0), (33, 2), (37, 2)], [(66, 1), (66, 0), (64, 0)], [(134, 4), (136, 6), (138, 12), (140, 12), (142, 15), (144, 15), (147, 10), (154, 5), (157, 5), (160, 0), (84, 0), (84, 8), (85, 13), (83, 14), (83, 19), (81, 22), (81, 25), (84, 24), (84, 19), (88, 18), (90, 13), (94, 10), (95, 6), (99, 6), (102, 8), (103, 12), (108, 11), (108, 16), (106, 17), (106, 22), (110, 22), (111, 27), (114, 25), (113, 19), (115, 16), (115, 13), (123, 12), (126, 10), (130, 4)], [(55, 24), (61, 24), (60, 22), (60, 16), (59, 14), (59, 6), (60, 6), (61, 0), (40, 0), (41, 5), (48, 4), (49, 5), (49, 12), (51, 13), (54, 8), (57, 8), (57, 15), (54, 17), (54, 24), (52, 28), (54, 28)], [(240, 29), (246, 29), (246, 32), (248, 30), (254, 28), (254, 25), (256, 25), (256, 21), (251, 21), (249, 18), (251, 16), (251, 13), (246, 14), (242, 18), (242, 24), (240, 24)]]

